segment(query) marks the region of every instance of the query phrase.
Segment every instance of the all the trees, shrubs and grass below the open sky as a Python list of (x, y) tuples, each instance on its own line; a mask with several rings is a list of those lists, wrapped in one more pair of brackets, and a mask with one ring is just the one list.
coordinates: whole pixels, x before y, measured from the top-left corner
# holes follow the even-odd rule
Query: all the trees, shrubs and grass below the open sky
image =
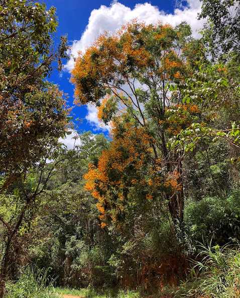
[(200, 39), (185, 22), (100, 35), (72, 82), (112, 129), (74, 128), (68, 150), (55, 9), (0, 1), (1, 298), (239, 296), (239, 11), (204, 0)]

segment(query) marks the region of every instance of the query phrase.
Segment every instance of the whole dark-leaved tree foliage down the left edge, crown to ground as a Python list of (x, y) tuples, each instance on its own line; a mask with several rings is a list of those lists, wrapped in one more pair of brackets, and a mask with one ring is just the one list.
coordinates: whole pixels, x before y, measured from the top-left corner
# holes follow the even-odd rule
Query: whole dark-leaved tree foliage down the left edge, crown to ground
[(56, 10), (26, 0), (0, 4), (0, 274), (5, 278), (15, 274), (19, 256), (26, 257), (40, 196), (60, 163), (51, 168), (48, 161), (64, 151), (58, 138), (66, 134), (69, 111), (63, 92), (46, 81), (52, 63), (61, 70), (61, 59), (67, 58), (66, 38), (56, 48), (53, 43)]

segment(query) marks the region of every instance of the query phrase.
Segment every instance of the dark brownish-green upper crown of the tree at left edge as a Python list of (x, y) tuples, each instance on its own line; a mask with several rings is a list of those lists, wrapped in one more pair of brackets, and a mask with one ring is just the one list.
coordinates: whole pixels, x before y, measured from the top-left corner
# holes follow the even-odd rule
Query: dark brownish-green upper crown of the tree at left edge
[(0, 2), (0, 193), (65, 135), (66, 99), (48, 83), (52, 63), (66, 58), (66, 38), (53, 44), (55, 8)]

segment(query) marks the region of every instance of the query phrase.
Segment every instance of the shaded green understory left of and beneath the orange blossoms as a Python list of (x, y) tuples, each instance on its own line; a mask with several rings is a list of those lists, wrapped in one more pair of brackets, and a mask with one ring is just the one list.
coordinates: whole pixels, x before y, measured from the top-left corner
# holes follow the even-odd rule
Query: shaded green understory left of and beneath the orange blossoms
[[(51, 266), (61, 286), (106, 288), (121, 282), (133, 288), (136, 284), (154, 288), (152, 280), (161, 275), (163, 259), (176, 252), (176, 238), (163, 215), (167, 209), (157, 199), (136, 201), (133, 196), (125, 206), (122, 226), (113, 221), (111, 228), (101, 228), (97, 200), (84, 189), (82, 176), (87, 164), (95, 164), (97, 154), (109, 144), (101, 135), (93, 139), (89, 132), (81, 140), (85, 141), (80, 150), (87, 151), (87, 158), (60, 170), (48, 182), (46, 191), (57, 196), (41, 216), (37, 225), (43, 233), (41, 242), (28, 256)], [(165, 276), (175, 274), (177, 262), (172, 267), (165, 262)]]

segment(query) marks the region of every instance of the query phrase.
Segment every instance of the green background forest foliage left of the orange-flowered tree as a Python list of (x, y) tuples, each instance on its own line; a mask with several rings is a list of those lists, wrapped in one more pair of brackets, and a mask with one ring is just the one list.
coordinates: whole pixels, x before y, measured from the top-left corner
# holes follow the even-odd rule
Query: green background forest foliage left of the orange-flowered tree
[[(86, 287), (112, 282), (106, 261), (110, 256), (109, 237), (99, 227), (96, 201), (84, 190), (83, 175), (87, 163), (94, 162), (97, 154), (108, 147), (100, 135), (83, 133), (77, 154), (48, 181), (43, 201), (51, 200), (51, 207), (42, 214), (38, 228), (42, 241), (32, 247), (30, 256), (41, 264), (52, 267), (59, 285)], [(108, 272), (109, 271), (109, 272)]]

